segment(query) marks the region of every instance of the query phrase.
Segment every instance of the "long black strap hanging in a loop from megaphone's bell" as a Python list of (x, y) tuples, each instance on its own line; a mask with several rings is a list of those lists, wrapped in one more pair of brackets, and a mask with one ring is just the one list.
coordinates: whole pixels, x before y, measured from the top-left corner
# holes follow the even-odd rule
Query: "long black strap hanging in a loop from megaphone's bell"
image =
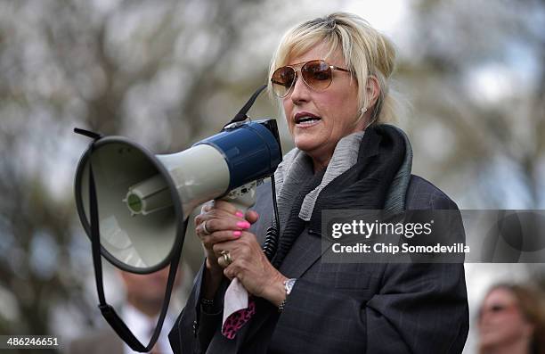
[[(170, 302), (170, 295), (174, 287), (176, 271), (180, 262), (182, 254), (182, 243), (177, 246), (174, 252), (174, 257), (170, 262), (170, 270), (168, 272), (167, 289), (165, 291), (165, 299), (163, 300), (163, 308), (161, 309), (157, 326), (151, 336), (150, 342), (147, 346), (143, 346), (135, 336), (134, 333), (126, 326), (125, 322), (118, 316), (115, 309), (106, 302), (104, 297), (104, 286), (102, 282), (102, 261), (101, 261), (101, 243), (100, 243), (100, 226), (99, 226), (99, 213), (98, 204), (96, 198), (96, 186), (94, 184), (93, 164), (91, 163), (91, 156), (94, 150), (94, 144), (102, 138), (100, 134), (90, 132), (85, 129), (75, 128), (74, 132), (84, 136), (89, 136), (94, 139), (89, 148), (89, 212), (91, 218), (91, 248), (93, 251), (93, 266), (94, 277), (96, 280), (96, 290), (98, 292), (99, 305), (102, 317), (110, 324), (111, 328), (118, 333), (118, 336), (131, 347), (132, 350), (139, 352), (148, 352), (153, 349), (153, 346), (159, 338), (159, 333), (163, 327), (165, 317), (167, 315), (168, 304)], [(183, 223), (183, 234), (187, 228), (187, 221)]]

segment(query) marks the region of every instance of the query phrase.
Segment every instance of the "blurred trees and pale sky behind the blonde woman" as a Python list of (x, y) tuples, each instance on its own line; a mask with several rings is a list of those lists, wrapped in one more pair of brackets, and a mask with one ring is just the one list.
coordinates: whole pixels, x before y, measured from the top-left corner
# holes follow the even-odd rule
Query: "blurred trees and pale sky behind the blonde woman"
[[(411, 137), (413, 173), (460, 209), (545, 208), (543, 2), (330, 3), (0, 1), (0, 334), (68, 342), (102, 325), (72, 192), (88, 141), (74, 127), (183, 150), (266, 82), (289, 26), (329, 12), (358, 13), (397, 45), (396, 124)], [(251, 113), (283, 119), (264, 97)], [(287, 152), (283, 122), (281, 133)], [(184, 257), (195, 272), (199, 244)], [(492, 282), (545, 278), (539, 265), (466, 268), (472, 316)], [(107, 297), (119, 300), (107, 270)]]

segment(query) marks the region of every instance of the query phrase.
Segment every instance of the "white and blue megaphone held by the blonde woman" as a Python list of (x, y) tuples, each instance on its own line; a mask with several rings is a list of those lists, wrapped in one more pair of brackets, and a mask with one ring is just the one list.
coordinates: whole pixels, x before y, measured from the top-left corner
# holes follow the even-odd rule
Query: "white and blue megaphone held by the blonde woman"
[[(77, 213), (91, 237), (89, 169), (99, 211), (101, 253), (123, 270), (148, 274), (167, 266), (183, 243), (183, 221), (202, 202), (235, 194), (281, 162), (276, 121), (235, 122), (182, 152), (154, 155), (122, 136), (106, 136), (82, 155), (75, 179)], [(249, 184), (249, 185), (248, 185)], [(241, 208), (248, 207), (240, 205)]]

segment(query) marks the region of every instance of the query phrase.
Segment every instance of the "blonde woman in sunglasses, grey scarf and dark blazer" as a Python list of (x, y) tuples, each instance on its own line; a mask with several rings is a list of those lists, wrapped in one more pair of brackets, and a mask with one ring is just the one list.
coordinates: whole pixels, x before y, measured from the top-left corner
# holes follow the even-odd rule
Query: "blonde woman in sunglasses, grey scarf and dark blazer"
[[(242, 214), (214, 202), (196, 218), (207, 259), (170, 334), (175, 352), (460, 353), (468, 334), (462, 264), (322, 261), (322, 210), (457, 210), (411, 175), (411, 144), (399, 128), (389, 79), (395, 49), (351, 13), (289, 29), (269, 89), (296, 148), (274, 177), (281, 230), (269, 261), (270, 185)], [(224, 318), (232, 279), (248, 308)]]

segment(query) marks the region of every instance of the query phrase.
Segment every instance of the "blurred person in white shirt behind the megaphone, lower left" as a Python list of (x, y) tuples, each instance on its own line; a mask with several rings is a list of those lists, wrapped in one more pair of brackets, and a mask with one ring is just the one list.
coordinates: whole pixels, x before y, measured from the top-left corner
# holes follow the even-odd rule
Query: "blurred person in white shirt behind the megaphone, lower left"
[[(165, 288), (167, 287), (169, 267), (163, 268), (155, 273), (148, 275), (139, 275), (118, 271), (126, 290), (126, 304), (120, 311), (120, 316), (126, 325), (131, 329), (136, 338), (146, 345), (151, 338), (151, 334), (157, 325), (159, 312), (163, 305), (165, 297)], [(182, 284), (182, 268), (176, 273), (173, 292)], [(152, 354), (171, 353), (170, 345), (167, 339), (167, 331), (174, 324), (174, 318), (167, 313), (165, 323), (159, 340), (155, 344)], [(110, 328), (110, 325), (71, 342), (69, 345), (69, 354), (133, 354), (125, 342), (118, 334)]]

